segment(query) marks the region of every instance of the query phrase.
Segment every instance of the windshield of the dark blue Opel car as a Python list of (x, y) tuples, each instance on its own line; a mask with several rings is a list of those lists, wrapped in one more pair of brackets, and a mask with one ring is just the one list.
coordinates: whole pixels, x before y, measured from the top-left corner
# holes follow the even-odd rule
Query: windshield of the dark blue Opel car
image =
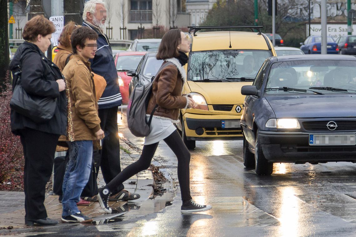
[[(277, 62), (272, 64), (269, 70), (265, 95), (356, 93), (355, 75), (356, 61), (300, 60)], [(282, 88), (284, 89), (282, 90)]]

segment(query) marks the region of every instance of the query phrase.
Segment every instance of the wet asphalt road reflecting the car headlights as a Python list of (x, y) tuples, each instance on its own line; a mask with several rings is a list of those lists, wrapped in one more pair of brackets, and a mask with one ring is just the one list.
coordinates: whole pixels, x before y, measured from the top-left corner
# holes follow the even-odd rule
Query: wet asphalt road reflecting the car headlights
[[(143, 139), (130, 134), (125, 119), (119, 127), (142, 148)], [(149, 200), (160, 211), (131, 218), (133, 210), (94, 225), (12, 236), (356, 236), (355, 164), (278, 163), (272, 176), (257, 176), (242, 164), (242, 141), (198, 141), (190, 162), (191, 193), (213, 209), (183, 215), (176, 157), (164, 142), (153, 162), (170, 180), (163, 196)]]

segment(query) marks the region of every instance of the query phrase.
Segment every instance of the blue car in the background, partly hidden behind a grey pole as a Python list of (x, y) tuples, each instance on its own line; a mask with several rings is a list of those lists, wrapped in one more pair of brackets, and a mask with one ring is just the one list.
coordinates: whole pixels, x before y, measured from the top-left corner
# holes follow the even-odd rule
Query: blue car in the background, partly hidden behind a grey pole
[[(332, 37), (326, 37), (326, 49), (328, 54), (339, 54), (339, 45), (335, 43)], [(309, 36), (304, 43), (300, 43), (300, 49), (305, 54), (320, 54), (321, 53), (321, 37)]]

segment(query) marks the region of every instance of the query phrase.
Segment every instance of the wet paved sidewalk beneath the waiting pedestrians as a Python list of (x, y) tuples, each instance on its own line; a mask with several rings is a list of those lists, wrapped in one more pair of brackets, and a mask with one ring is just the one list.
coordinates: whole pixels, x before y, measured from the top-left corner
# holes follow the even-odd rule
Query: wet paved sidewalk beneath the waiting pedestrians
[[(120, 160), (121, 160), (121, 169), (124, 169), (126, 166), (130, 165), (132, 162), (138, 159), (139, 153), (131, 149), (124, 141), (120, 141)], [(98, 186), (101, 187), (104, 185), (104, 180), (99, 173), (98, 177)], [(131, 193), (138, 193), (141, 195), (140, 199), (130, 201), (132, 205), (131, 208), (139, 208), (146, 200), (148, 200), (153, 194), (153, 188), (148, 186), (153, 184), (152, 172), (149, 170), (138, 173), (137, 175), (131, 177), (129, 180), (125, 181), (125, 189)], [(0, 235), (5, 233), (9, 229), (28, 229), (28, 228), (38, 228), (32, 226), (26, 226), (25, 222), (25, 194), (23, 192), (6, 192), (0, 191)], [(111, 208), (117, 208), (121, 210), (122, 213), (128, 211), (125, 201), (119, 202), (109, 202)], [(48, 217), (54, 220), (59, 221), (60, 226), (73, 225), (73, 223), (62, 223), (62, 204), (58, 203), (57, 195), (46, 195), (45, 206), (47, 210)], [(120, 208), (121, 207), (121, 208)], [(79, 206), (79, 209), (83, 212), (84, 215), (93, 217), (94, 221), (100, 221), (108, 219), (112, 216), (105, 214), (105, 212), (100, 208), (98, 202), (92, 202), (89, 206)], [(118, 214), (116, 214), (118, 215)], [(1, 230), (2, 229), (2, 230)]]

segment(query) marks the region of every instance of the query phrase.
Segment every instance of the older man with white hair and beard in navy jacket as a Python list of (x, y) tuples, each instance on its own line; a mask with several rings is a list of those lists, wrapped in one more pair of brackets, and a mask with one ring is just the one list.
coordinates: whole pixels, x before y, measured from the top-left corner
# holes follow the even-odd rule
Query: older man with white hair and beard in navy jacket
[[(120, 143), (117, 128), (117, 109), (122, 103), (119, 83), (117, 81), (117, 71), (108, 36), (104, 33), (106, 21), (106, 6), (101, 0), (90, 0), (84, 5), (83, 26), (93, 29), (98, 33), (97, 39), (98, 50), (95, 52), (94, 59), (89, 60), (91, 70), (103, 76), (106, 80), (106, 88), (98, 101), (100, 127), (104, 130), (105, 138), (102, 142), (100, 155), (100, 168), (105, 183), (109, 183), (118, 173), (120, 167)], [(115, 194), (111, 199), (117, 200), (135, 200), (140, 198), (138, 194), (131, 194), (124, 190), (121, 184), (112, 192)], [(93, 199), (85, 198), (93, 201)], [(109, 199), (110, 200), (110, 199)], [(112, 200), (114, 201), (114, 200)]]

